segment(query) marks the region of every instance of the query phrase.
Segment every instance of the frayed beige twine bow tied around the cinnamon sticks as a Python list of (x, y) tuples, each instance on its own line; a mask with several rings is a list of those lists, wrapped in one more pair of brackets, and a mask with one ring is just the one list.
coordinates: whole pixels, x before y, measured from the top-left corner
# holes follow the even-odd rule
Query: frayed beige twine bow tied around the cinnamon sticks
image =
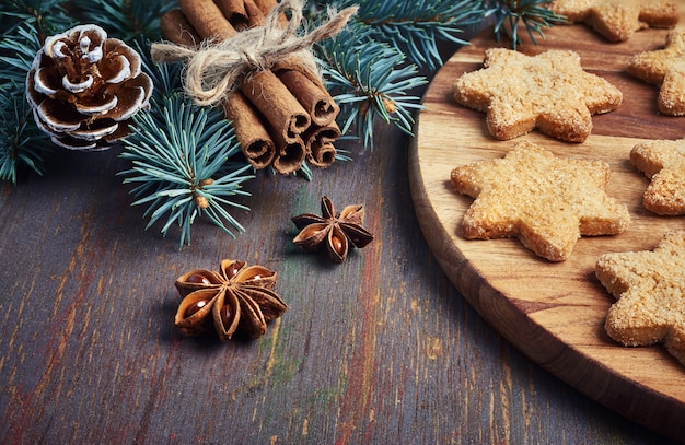
[[(263, 26), (242, 31), (225, 40), (206, 40), (197, 48), (173, 43), (152, 44), (152, 59), (186, 62), (184, 89), (201, 106), (218, 104), (240, 89), (251, 73), (270, 69), (288, 57), (297, 57), (316, 72), (312, 46), (342, 31), (358, 7), (329, 12), (326, 23), (298, 36), (302, 8), (303, 0), (283, 0), (271, 9)], [(282, 27), (279, 17), (288, 11), (291, 17)]]

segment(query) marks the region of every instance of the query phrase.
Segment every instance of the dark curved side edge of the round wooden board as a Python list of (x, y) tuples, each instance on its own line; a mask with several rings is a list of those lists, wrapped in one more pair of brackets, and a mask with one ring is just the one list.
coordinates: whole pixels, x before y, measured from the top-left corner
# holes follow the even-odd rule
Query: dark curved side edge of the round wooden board
[[(430, 110), (423, 109), (417, 116), (415, 137), (409, 147), (409, 188), (421, 232), (431, 233), (430, 237), (423, 238), (452, 284), (486, 323), (550, 374), (627, 419), (685, 442), (685, 406), (675, 399), (664, 399), (663, 395), (637, 382), (611, 375), (602, 364), (550, 335), (491, 286), (456, 248), (444, 227), (432, 223), (439, 218), (423, 187), (423, 174), (418, 159), (419, 121), (426, 113)], [(450, 246), (450, 254), (438, 255), (437, 253), (445, 250), (445, 246)], [(497, 313), (497, 318), (494, 313)], [(492, 326), (489, 321), (491, 319), (512, 320), (509, 326), (526, 326), (527, 329), (516, 329), (514, 332), (508, 326)], [(539, 341), (545, 341), (546, 348), (536, 348)], [(587, 363), (581, 372), (578, 366), (569, 366), (569, 363), (581, 361)], [(646, 412), (645, 405), (652, 409)]]

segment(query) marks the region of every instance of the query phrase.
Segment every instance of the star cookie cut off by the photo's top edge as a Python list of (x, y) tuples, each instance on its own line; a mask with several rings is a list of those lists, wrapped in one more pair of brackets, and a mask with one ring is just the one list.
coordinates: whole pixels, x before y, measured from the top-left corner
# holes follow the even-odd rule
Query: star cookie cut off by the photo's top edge
[(556, 0), (549, 10), (568, 23), (585, 23), (609, 42), (627, 40), (647, 27), (677, 23), (677, 7), (664, 0)]

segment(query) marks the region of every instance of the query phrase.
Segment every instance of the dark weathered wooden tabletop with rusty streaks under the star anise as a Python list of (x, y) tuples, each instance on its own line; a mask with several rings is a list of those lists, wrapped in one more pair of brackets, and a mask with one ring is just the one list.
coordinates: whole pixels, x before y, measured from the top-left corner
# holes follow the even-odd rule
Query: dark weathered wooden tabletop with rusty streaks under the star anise
[[(56, 151), (0, 194), (0, 443), (667, 443), (504, 341), (450, 284), (413, 210), (410, 138), (253, 180), (237, 239), (143, 231), (117, 151)], [(376, 236), (341, 265), (290, 218), (364, 203)], [(278, 272), (290, 309), (254, 341), (188, 339), (174, 279), (223, 258)]]

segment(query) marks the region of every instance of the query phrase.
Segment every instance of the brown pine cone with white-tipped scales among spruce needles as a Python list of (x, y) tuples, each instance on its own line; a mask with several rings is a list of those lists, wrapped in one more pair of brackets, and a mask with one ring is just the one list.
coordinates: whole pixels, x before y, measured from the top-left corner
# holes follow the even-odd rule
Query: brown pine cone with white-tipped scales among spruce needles
[(148, 105), (152, 80), (140, 67), (138, 52), (96, 25), (48, 37), (26, 78), (36, 124), (67, 149), (107, 149)]

